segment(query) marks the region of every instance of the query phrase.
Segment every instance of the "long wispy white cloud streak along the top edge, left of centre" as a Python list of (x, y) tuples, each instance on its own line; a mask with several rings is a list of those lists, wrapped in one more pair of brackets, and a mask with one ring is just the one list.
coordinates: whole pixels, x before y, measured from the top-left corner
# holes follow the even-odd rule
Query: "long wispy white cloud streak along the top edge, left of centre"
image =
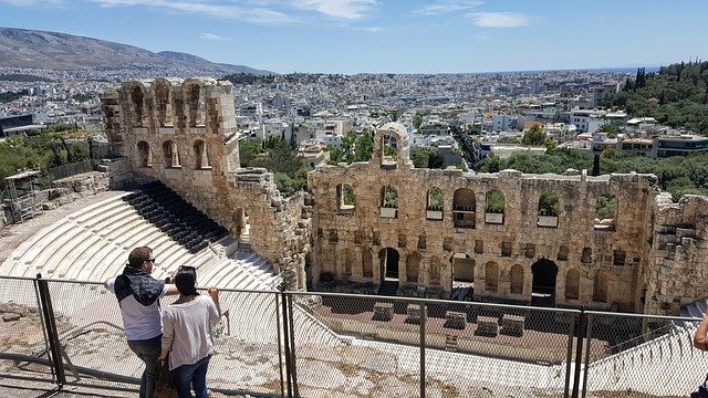
[(298, 22), (283, 12), (268, 8), (242, 8), (233, 3), (218, 1), (168, 1), (168, 0), (91, 0), (102, 7), (150, 7), (186, 13), (204, 14), (214, 18), (246, 21), (260, 24), (280, 25)]

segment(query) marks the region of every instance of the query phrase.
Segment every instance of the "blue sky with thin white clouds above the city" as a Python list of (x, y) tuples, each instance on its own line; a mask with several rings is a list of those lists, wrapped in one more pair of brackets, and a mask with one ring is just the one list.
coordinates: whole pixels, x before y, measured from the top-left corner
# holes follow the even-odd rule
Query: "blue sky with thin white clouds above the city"
[(708, 60), (706, 0), (0, 0), (0, 25), (278, 73), (465, 73)]

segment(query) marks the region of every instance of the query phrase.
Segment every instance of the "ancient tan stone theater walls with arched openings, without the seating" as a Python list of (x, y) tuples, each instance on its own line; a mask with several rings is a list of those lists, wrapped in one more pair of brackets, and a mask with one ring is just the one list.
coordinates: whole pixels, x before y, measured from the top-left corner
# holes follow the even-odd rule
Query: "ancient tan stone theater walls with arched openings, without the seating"
[[(160, 180), (267, 258), (290, 289), (678, 314), (705, 297), (708, 198), (653, 175), (418, 169), (389, 123), (371, 161), (319, 166), (282, 196), (241, 168), (233, 92), (210, 78), (102, 95), (114, 187)], [(386, 146), (395, 150), (385, 150)], [(611, 213), (597, 216), (600, 203)]]

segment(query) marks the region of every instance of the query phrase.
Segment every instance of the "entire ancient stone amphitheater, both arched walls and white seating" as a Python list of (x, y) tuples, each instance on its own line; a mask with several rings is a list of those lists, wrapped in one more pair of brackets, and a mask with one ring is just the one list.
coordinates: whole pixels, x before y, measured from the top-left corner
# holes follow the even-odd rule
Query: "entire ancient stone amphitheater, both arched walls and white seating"
[[(285, 281), (293, 291), (393, 289), (399, 295), (449, 298), (467, 283), (475, 301), (529, 304), (543, 297), (554, 306), (658, 315), (700, 312), (696, 308), (705, 303), (708, 198), (687, 196), (674, 203), (653, 175), (416, 169), (404, 127), (392, 123), (375, 133), (371, 161), (320, 166), (309, 174), (309, 192), (283, 197), (272, 174), (240, 167), (229, 82), (131, 81), (105, 92), (102, 109), (116, 155), (105, 172), (111, 195), (32, 234), (0, 264), (0, 275), (102, 282), (121, 271), (132, 248), (149, 245), (158, 256), (157, 277), (192, 264), (202, 286), (269, 291)], [(391, 143), (396, 155), (385, 156)], [(434, 203), (431, 192), (442, 199)], [(501, 212), (488, 211), (491, 192), (501, 193)], [(548, 192), (559, 198), (555, 214), (539, 211)], [(604, 197), (614, 198), (616, 211), (597, 220), (595, 206)], [(95, 285), (82, 289), (82, 296), (92, 297), (82, 303), (73, 303), (75, 292), (58, 292), (62, 302), (73, 303), (62, 312), (72, 318), (72, 329), (119, 323), (115, 312), (96, 320), (90, 308), (107, 305), (105, 294)], [(32, 305), (30, 293), (14, 302)], [(273, 304), (256, 294), (235, 293), (226, 302), (248, 320), (274, 313)], [(306, 311), (298, 310), (295, 320), (296, 329), (308, 331), (296, 338), (310, 353), (301, 365), (308, 396), (381, 395), (372, 379), (387, 386), (386, 396), (410, 395), (416, 348), (343, 337)], [(238, 337), (219, 343), (225, 352), (274, 349), (272, 328), (239, 327), (232, 334)], [(675, 394), (674, 383), (648, 389), (632, 381), (642, 378), (621, 376), (662, 375), (667, 366), (701, 369), (705, 356), (690, 347), (693, 331), (681, 326), (659, 342), (591, 364), (606, 374), (593, 383), (606, 383), (597, 386), (603, 390)], [(119, 344), (119, 331), (108, 334)], [(538, 396), (544, 396), (563, 389), (568, 366), (427, 355), (427, 376), (436, 381), (429, 392), (440, 397), (535, 395), (528, 386), (539, 386)], [(342, 368), (342, 358), (356, 366), (356, 377)], [(121, 360), (128, 375), (138, 374), (134, 358)], [(230, 369), (230, 381), (247, 385), (253, 374), (262, 376), (260, 384), (278, 378), (266, 370), (273, 366), (270, 358), (233, 354), (219, 360), (219, 368)], [(323, 362), (331, 366), (323, 369)], [(696, 380), (695, 374), (700, 371), (684, 373), (686, 380), (676, 383)], [(479, 380), (504, 388), (487, 394)], [(258, 391), (258, 383), (252, 388)]]

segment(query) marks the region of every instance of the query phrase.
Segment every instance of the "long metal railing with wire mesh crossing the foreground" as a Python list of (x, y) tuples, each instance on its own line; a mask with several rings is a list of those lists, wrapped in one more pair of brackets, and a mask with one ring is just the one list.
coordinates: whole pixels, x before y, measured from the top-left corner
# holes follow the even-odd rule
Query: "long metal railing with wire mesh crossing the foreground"
[[(0, 377), (137, 390), (143, 364), (101, 284), (0, 291)], [(220, 303), (207, 385), (227, 395), (676, 397), (708, 363), (696, 318), (277, 290)]]

